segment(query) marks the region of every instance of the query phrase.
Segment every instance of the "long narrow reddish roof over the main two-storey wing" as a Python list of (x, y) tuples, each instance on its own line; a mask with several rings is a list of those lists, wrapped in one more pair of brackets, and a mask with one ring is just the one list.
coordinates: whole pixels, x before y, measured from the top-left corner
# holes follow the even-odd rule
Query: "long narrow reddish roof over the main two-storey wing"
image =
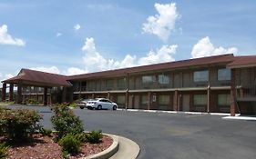
[(122, 68), (117, 70), (108, 70), (97, 73), (89, 73), (84, 75), (71, 75), (68, 76), (68, 80), (78, 80), (100, 76), (115, 76), (115, 75), (126, 75), (131, 73), (155, 71), (155, 70), (166, 70), (166, 69), (177, 69), (189, 66), (200, 66), (200, 65), (212, 65), (212, 64), (227, 64), (233, 60), (234, 56), (230, 55), (215, 55), (202, 58), (194, 58), (189, 60), (182, 60), (169, 63), (161, 63), (155, 65), (142, 65), (130, 68)]

